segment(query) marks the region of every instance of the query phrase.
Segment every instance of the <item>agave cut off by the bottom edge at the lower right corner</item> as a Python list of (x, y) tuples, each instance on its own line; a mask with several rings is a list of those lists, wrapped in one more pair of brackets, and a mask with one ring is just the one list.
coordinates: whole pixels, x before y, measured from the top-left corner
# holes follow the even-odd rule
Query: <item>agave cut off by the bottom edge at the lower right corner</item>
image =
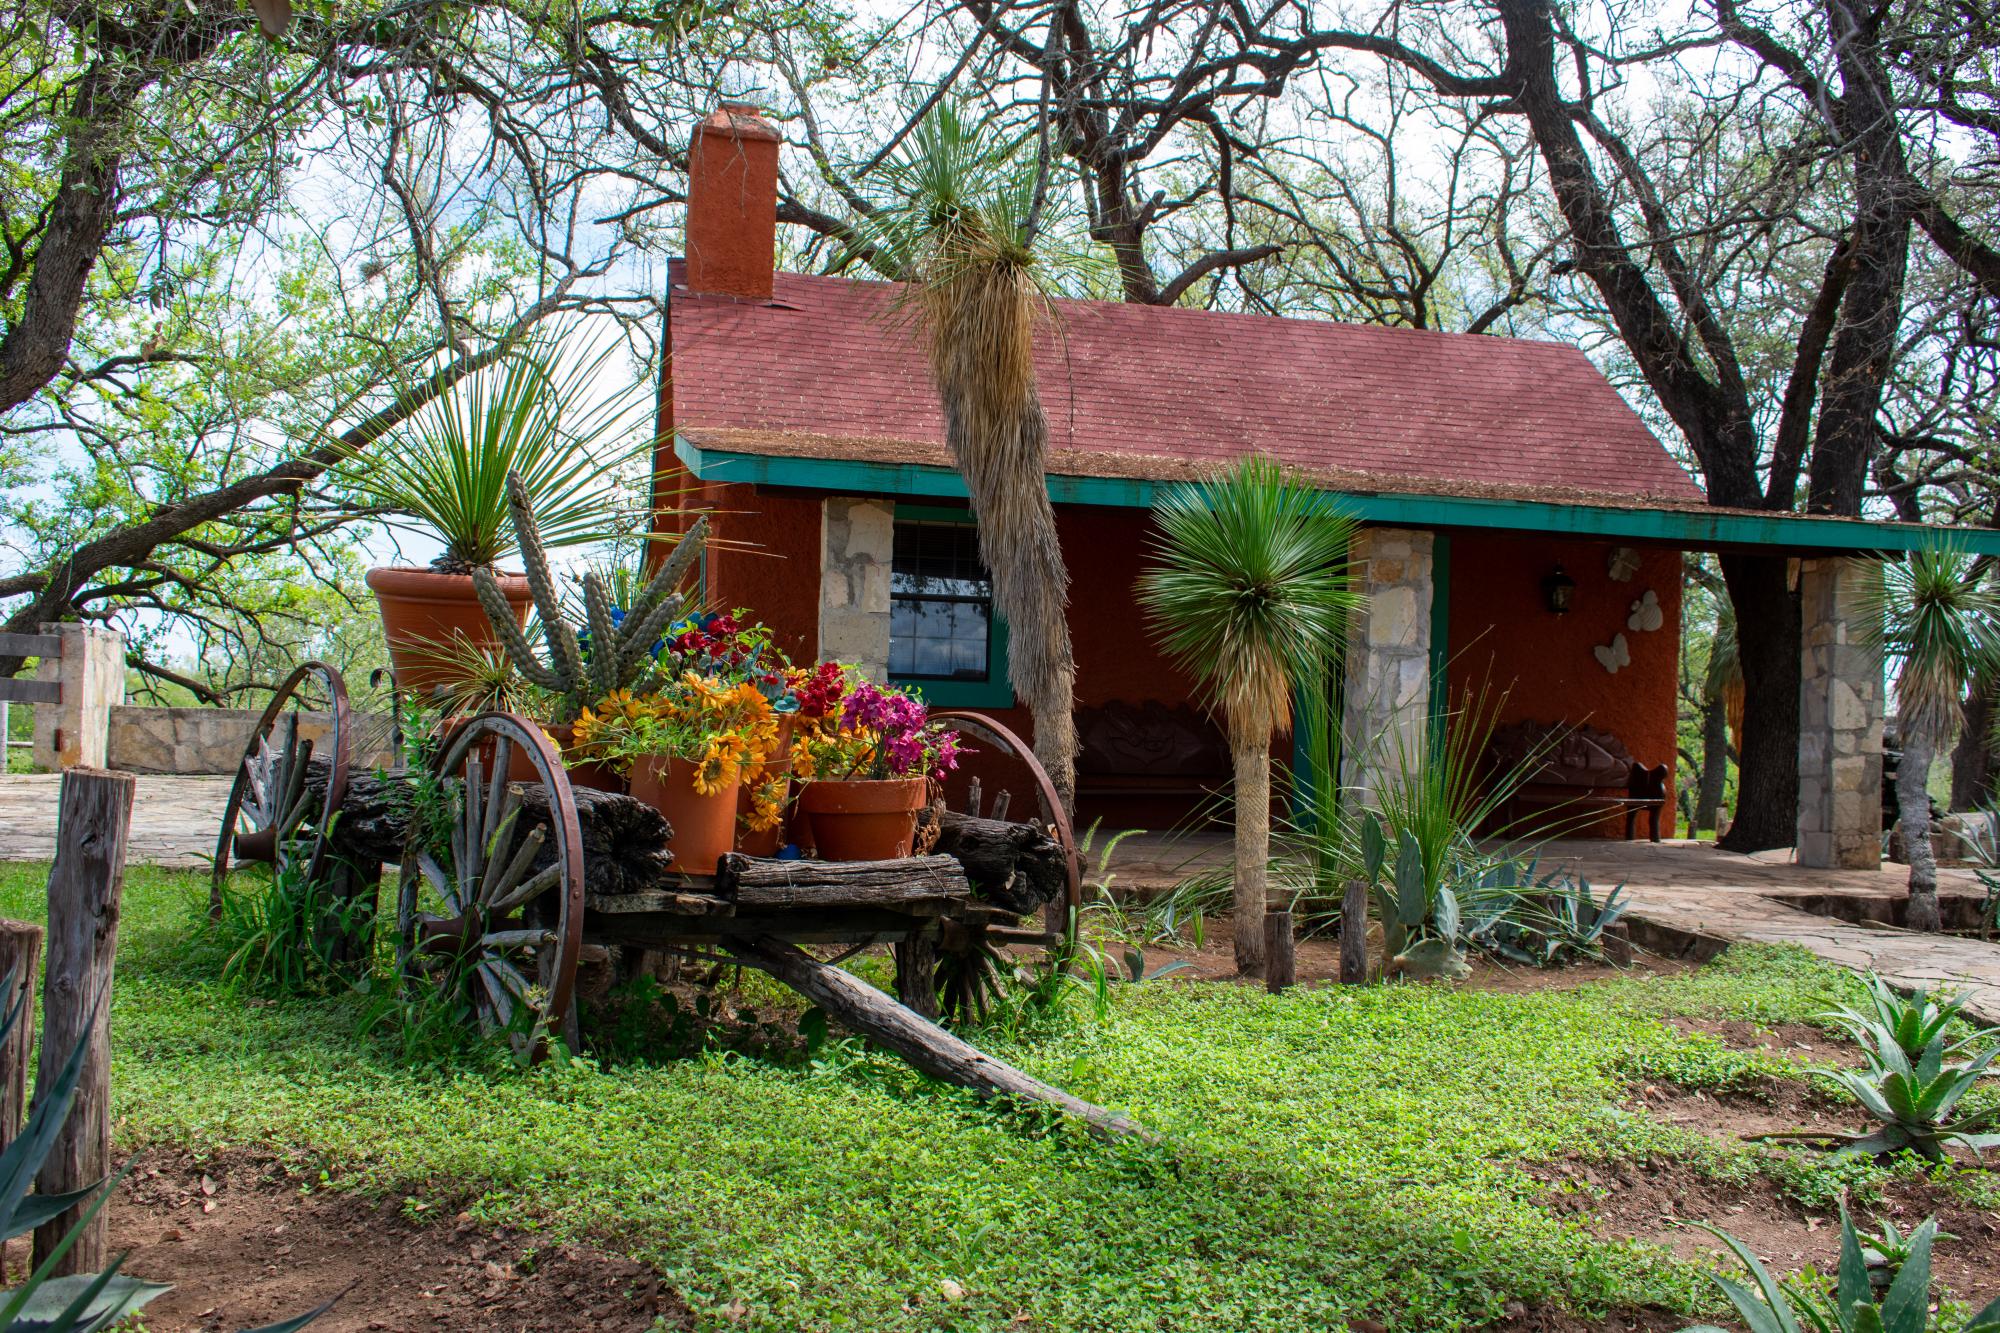
[[(1930, 1317), (1930, 1247), (1938, 1237), (1936, 1219), (1924, 1221), (1908, 1239), (1886, 1229), (1896, 1247), (1896, 1271), (1878, 1291), (1868, 1255), (1846, 1205), (1840, 1207), (1840, 1267), (1832, 1293), (1802, 1285), (1786, 1285), (1770, 1275), (1748, 1245), (1720, 1227), (1702, 1225), (1736, 1255), (1750, 1275), (1752, 1287), (1716, 1275), (1716, 1285), (1730, 1299), (1750, 1333), (1944, 1333)], [(1874, 1239), (1874, 1237), (1870, 1237)], [(1878, 1251), (1880, 1253), (1880, 1251)], [(1684, 1333), (1722, 1333), (1700, 1325)], [(1952, 1333), (2000, 1333), (2000, 1301), (1994, 1301)]]

